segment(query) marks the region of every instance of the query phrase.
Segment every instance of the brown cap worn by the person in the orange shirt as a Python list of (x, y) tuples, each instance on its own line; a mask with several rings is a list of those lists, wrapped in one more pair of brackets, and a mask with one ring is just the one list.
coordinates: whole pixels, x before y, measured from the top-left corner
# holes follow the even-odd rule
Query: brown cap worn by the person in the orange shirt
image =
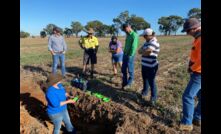
[(198, 19), (190, 18), (190, 19), (186, 20), (186, 22), (183, 24), (183, 30), (181, 32), (186, 32), (190, 29), (197, 28), (200, 26), (201, 26), (201, 23)]

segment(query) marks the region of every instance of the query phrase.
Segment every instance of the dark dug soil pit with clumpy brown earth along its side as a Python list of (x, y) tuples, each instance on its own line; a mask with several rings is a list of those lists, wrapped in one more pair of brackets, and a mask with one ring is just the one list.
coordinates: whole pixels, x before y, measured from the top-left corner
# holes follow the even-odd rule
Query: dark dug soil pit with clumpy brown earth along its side
[(72, 90), (79, 100), (68, 105), (71, 121), (79, 134), (146, 134), (152, 120), (115, 102), (103, 102), (80, 90)]

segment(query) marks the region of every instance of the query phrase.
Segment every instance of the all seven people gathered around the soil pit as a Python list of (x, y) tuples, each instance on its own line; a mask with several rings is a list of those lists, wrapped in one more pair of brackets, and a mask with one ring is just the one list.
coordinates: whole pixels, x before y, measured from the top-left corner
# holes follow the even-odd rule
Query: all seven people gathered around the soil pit
[[(117, 65), (122, 72), (122, 89), (132, 88), (134, 83), (134, 60), (139, 44), (139, 35), (131, 28), (129, 24), (123, 24), (122, 30), (126, 33), (124, 49), (121, 42), (116, 36), (112, 36), (108, 49), (112, 53), (113, 77), (117, 76)], [(46, 92), (48, 101), (48, 115), (54, 123), (54, 133), (58, 133), (61, 122), (64, 121), (69, 132), (75, 133), (75, 128), (70, 122), (67, 112), (67, 104), (75, 103), (62, 86), (61, 79), (65, 78), (65, 52), (67, 45), (57, 28), (53, 29), (54, 34), (49, 37), (48, 49), (52, 54), (53, 66), (52, 74), (48, 78), (49, 87)], [(79, 40), (81, 48), (84, 50), (83, 71), (86, 75), (86, 68), (91, 63), (90, 76), (93, 78), (94, 64), (97, 63), (97, 52), (99, 48), (98, 39), (93, 35), (94, 31), (89, 28), (87, 36)], [(182, 32), (195, 38), (191, 49), (190, 62), (188, 71), (190, 81), (182, 96), (183, 100), (183, 118), (180, 123), (181, 130), (191, 131), (192, 124), (200, 125), (201, 123), (201, 23), (196, 18), (190, 18), (185, 21)], [(145, 98), (148, 95), (149, 87), (151, 89), (150, 104), (155, 106), (157, 101), (157, 86), (155, 77), (158, 70), (158, 54), (160, 44), (157, 41), (155, 32), (147, 28), (142, 33), (145, 42), (138, 49), (141, 55), (143, 89), (141, 95)], [(56, 74), (58, 60), (61, 61), (62, 76)], [(52, 81), (52, 82), (51, 82)], [(194, 98), (198, 97), (198, 105), (194, 109)]]

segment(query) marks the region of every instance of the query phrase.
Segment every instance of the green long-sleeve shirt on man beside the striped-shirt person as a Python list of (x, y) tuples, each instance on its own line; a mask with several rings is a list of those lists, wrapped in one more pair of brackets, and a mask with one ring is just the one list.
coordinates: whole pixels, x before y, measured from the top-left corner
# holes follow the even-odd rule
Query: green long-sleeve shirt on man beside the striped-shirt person
[(124, 46), (124, 54), (128, 56), (134, 56), (136, 54), (136, 50), (139, 43), (139, 36), (134, 31), (131, 31), (127, 34), (125, 46)]

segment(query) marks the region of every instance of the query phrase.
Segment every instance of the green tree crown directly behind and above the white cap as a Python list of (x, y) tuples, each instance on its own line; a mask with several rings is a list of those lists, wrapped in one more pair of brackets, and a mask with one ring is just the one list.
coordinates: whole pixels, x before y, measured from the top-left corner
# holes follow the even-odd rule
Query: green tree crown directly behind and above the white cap
[(131, 15), (131, 17), (128, 20), (128, 23), (131, 25), (134, 31), (150, 28), (150, 24), (146, 22), (144, 18), (138, 17), (136, 15)]

